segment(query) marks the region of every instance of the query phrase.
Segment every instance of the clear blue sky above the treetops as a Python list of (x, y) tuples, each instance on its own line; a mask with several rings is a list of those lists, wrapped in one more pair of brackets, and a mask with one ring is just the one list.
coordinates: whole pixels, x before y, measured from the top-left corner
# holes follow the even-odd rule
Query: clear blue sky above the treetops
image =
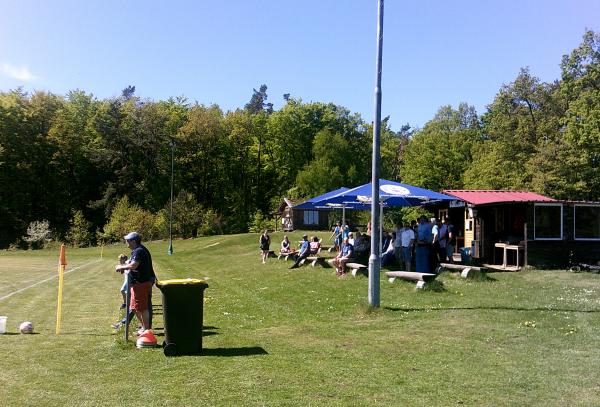
[[(252, 88), (373, 120), (376, 0), (0, 0), (0, 91), (186, 96), (223, 110)], [(440, 106), (483, 113), (529, 66), (560, 77), (598, 0), (388, 0), (382, 115), (422, 126)]]

